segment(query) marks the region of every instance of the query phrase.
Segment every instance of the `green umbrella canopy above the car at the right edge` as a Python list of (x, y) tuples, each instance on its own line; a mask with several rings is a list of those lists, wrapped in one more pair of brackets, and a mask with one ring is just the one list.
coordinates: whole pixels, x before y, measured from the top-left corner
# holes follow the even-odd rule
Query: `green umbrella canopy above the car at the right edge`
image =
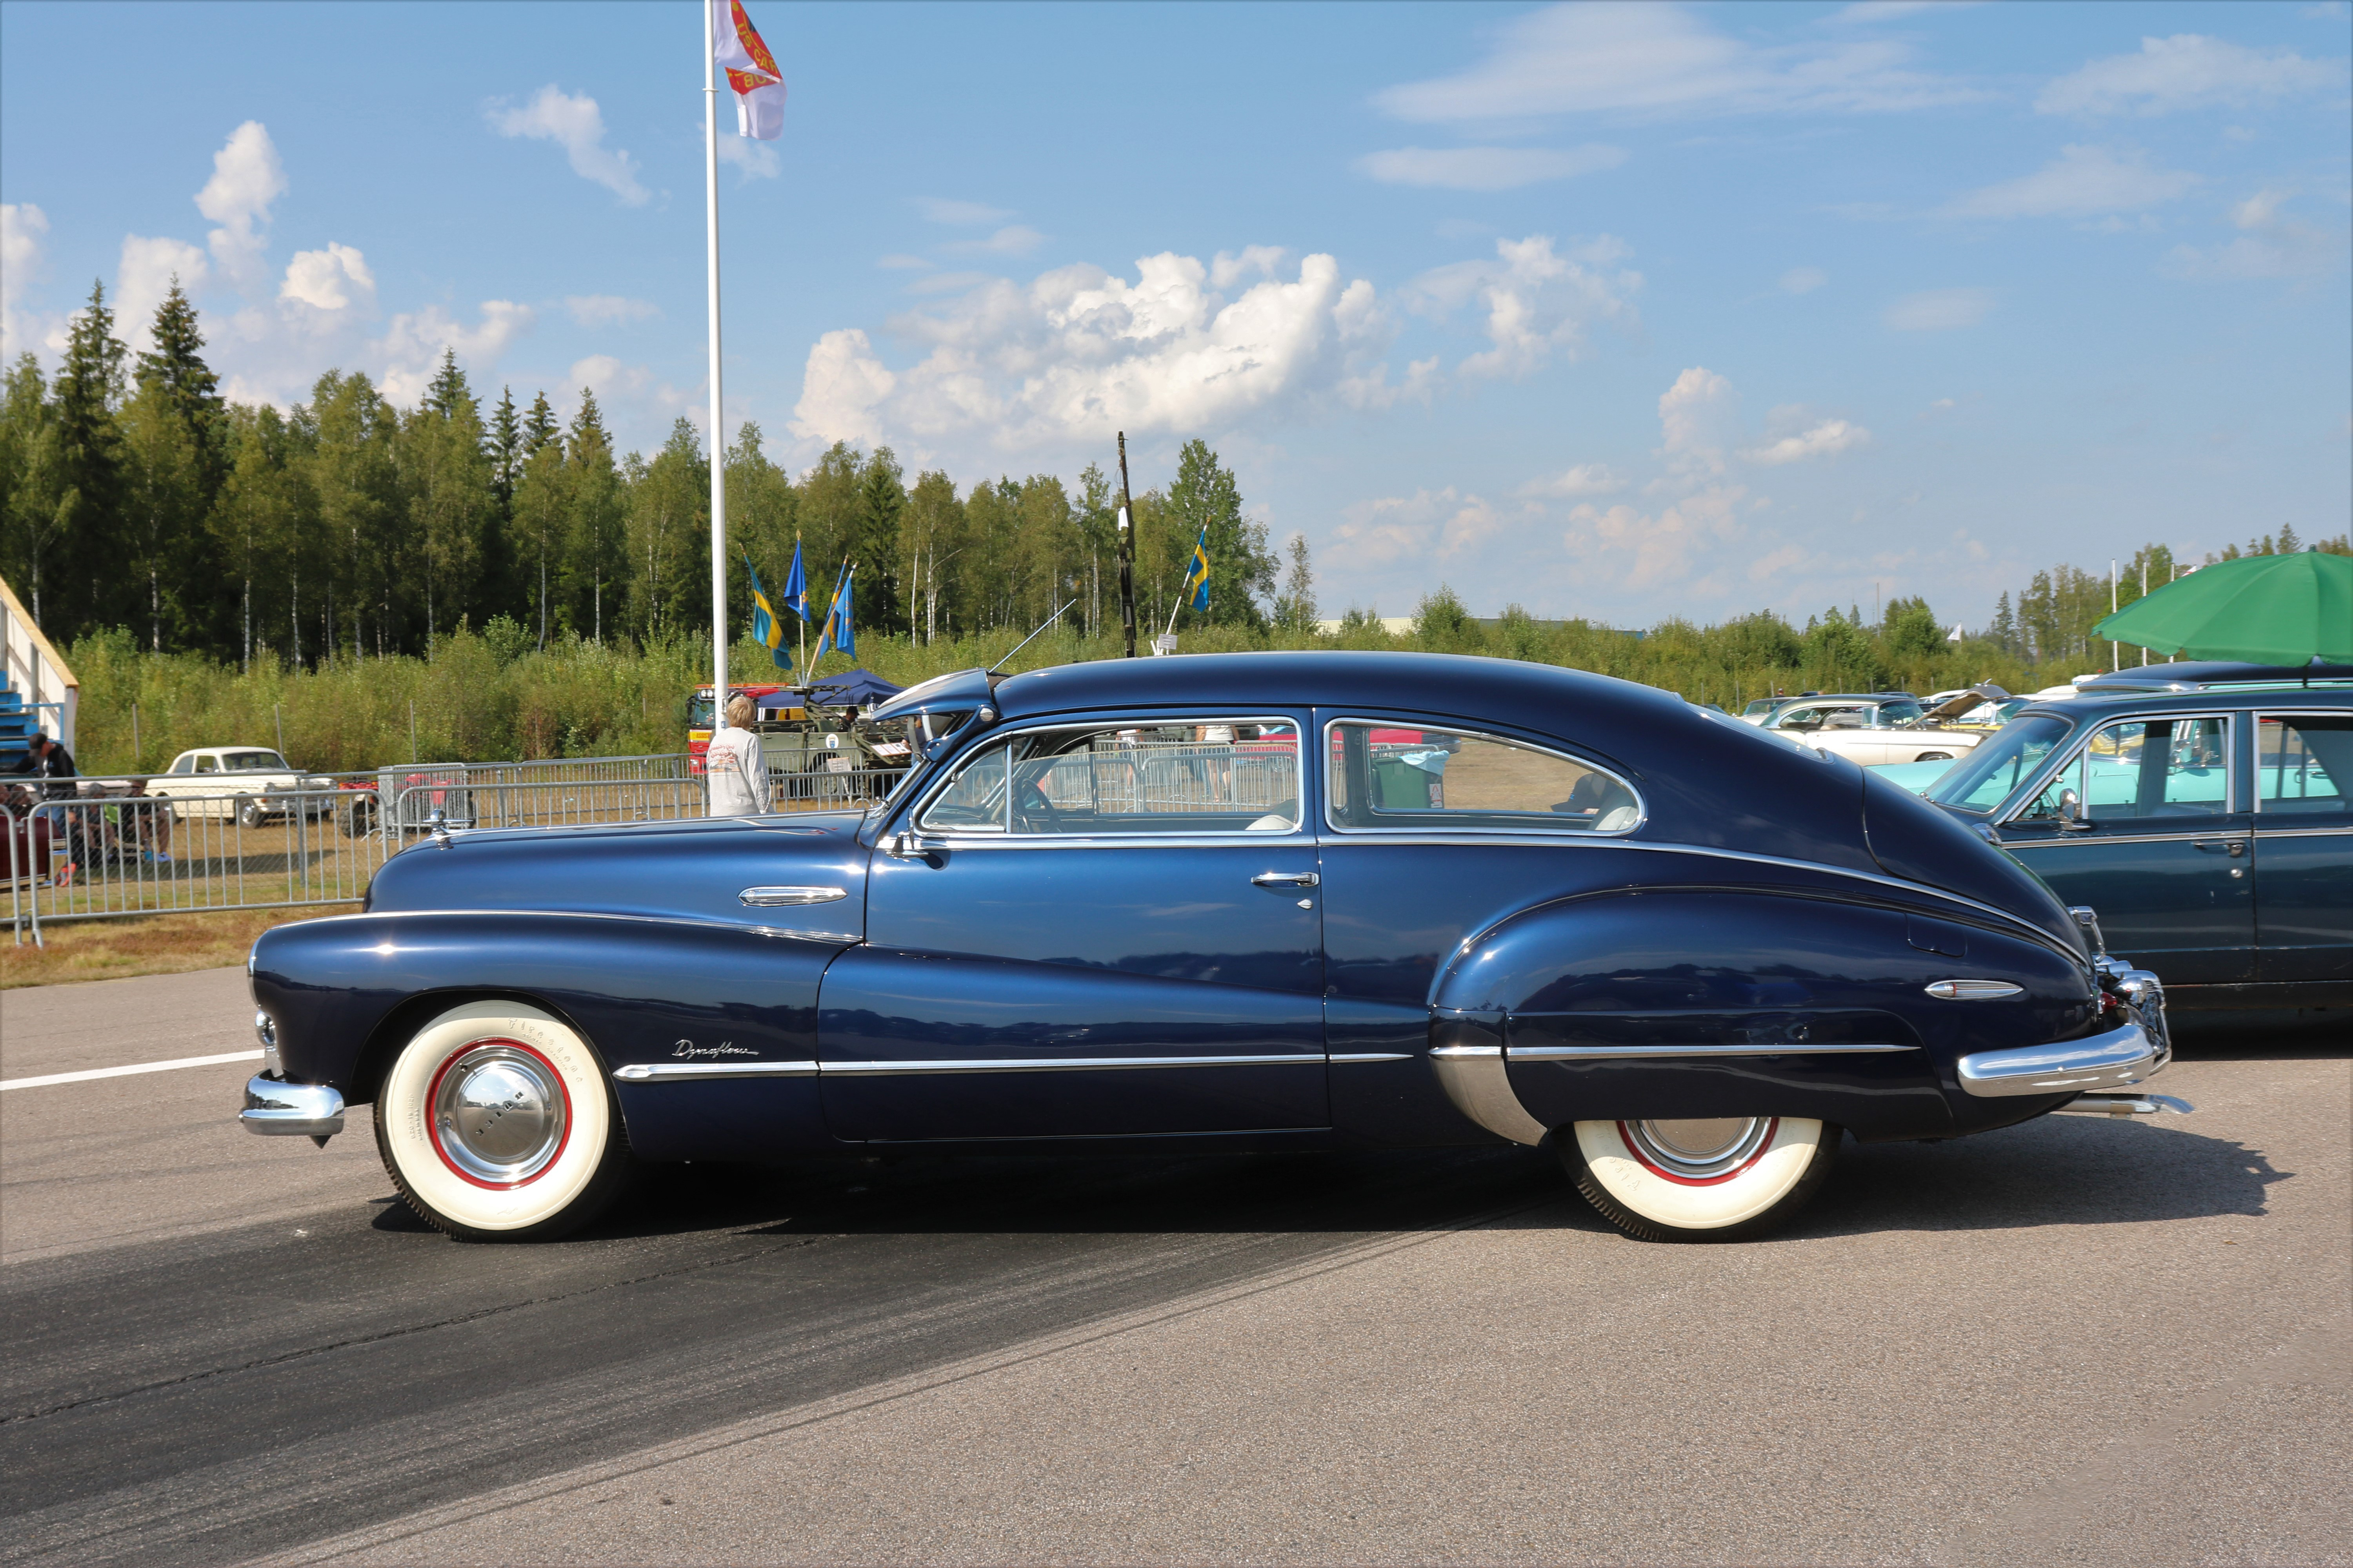
[(2092, 628), (2188, 658), (2353, 663), (2353, 555), (2242, 555), (2200, 567)]

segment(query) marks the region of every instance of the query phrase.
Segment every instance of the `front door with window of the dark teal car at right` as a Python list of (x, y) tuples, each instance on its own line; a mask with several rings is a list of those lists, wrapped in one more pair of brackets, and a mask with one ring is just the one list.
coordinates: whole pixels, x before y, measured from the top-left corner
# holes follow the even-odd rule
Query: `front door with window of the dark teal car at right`
[[(2099, 912), (2108, 950), (2167, 985), (2254, 980), (2254, 818), (2233, 783), (2231, 715), (2094, 729), (2002, 844), (2061, 900)], [(2061, 816), (2073, 790), (2080, 816)]]

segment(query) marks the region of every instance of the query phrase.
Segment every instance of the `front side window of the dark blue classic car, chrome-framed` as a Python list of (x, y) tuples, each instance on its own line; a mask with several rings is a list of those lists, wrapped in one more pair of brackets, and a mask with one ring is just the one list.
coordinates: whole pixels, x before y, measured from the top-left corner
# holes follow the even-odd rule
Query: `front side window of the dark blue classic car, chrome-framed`
[(915, 827), (1014, 837), (1294, 832), (1299, 726), (1212, 717), (1021, 731), (955, 769)]

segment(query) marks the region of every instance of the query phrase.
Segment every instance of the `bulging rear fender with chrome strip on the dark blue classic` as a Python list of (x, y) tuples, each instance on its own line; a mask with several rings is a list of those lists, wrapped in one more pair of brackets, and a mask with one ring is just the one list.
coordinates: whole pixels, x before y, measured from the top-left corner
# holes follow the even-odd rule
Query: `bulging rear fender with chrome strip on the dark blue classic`
[[(1704, 957), (1701, 957), (1704, 954)], [(1998, 978), (2000, 1001), (1927, 985)], [(1612, 891), (1539, 905), (1466, 943), (1440, 1027), (1501, 1037), (1546, 1126), (1635, 1117), (1819, 1117), (1866, 1140), (1946, 1138), (2040, 1114), (1958, 1084), (1972, 1051), (2045, 1044), (2099, 1016), (2042, 943), (1873, 903), (1767, 891)]]

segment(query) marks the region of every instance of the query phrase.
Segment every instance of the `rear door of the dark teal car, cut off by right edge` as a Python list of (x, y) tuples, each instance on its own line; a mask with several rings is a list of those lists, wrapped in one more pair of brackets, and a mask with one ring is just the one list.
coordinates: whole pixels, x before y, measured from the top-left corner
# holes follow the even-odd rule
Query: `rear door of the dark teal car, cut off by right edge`
[(2353, 980), (2353, 712), (2254, 724), (2254, 971)]

